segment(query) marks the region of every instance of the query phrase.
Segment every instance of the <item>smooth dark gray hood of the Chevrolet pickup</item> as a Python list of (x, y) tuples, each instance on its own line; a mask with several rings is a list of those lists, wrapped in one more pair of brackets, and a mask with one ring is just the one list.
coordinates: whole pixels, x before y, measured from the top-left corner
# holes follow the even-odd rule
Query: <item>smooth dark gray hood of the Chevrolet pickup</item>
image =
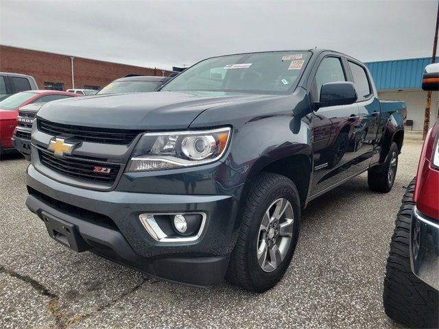
[(45, 103), (37, 117), (69, 125), (135, 130), (187, 129), (204, 110), (273, 95), (156, 92), (75, 97)]

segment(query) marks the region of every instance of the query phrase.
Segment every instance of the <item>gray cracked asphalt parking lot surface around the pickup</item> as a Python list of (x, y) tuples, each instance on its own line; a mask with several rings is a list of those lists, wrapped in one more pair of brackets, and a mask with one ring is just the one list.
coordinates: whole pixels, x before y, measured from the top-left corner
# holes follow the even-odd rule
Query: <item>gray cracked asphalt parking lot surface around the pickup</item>
[(195, 289), (56, 243), (27, 210), (20, 156), (0, 161), (0, 328), (399, 328), (382, 306), (394, 220), (416, 174), (407, 141), (394, 188), (360, 175), (302, 212), (296, 254), (274, 289)]

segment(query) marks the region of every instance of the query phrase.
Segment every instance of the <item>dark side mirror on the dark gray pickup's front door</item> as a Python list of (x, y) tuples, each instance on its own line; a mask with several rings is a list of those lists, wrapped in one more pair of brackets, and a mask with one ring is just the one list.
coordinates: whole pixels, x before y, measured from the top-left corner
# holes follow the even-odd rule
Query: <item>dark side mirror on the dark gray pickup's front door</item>
[(357, 91), (352, 82), (327, 82), (320, 89), (318, 108), (349, 105), (357, 101)]

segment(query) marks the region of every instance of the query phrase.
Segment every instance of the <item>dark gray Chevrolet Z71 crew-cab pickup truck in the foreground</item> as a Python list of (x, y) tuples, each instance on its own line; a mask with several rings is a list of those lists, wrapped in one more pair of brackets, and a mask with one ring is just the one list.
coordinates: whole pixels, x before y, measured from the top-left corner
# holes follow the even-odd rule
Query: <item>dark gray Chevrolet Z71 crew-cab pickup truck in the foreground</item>
[(26, 204), (77, 252), (173, 282), (266, 291), (310, 200), (364, 171), (373, 191), (390, 191), (405, 115), (342, 53), (209, 58), (158, 93), (45, 104)]

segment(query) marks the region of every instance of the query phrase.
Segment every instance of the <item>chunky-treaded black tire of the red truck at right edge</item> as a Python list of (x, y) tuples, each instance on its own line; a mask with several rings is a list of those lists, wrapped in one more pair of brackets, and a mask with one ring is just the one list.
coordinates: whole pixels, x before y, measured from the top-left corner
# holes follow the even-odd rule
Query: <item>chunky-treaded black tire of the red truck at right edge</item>
[(414, 180), (407, 187), (396, 217), (396, 227), (384, 278), (385, 314), (413, 328), (439, 328), (438, 291), (418, 279), (410, 267), (410, 226)]

